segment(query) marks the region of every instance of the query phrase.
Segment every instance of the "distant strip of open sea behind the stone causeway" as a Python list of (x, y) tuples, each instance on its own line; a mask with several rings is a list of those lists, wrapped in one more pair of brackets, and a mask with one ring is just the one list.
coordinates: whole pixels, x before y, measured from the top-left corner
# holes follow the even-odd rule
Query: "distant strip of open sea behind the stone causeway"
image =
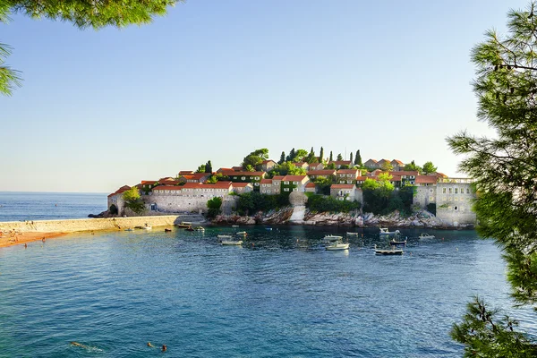
[(107, 194), (0, 192), (0, 221), (84, 218), (107, 209)]

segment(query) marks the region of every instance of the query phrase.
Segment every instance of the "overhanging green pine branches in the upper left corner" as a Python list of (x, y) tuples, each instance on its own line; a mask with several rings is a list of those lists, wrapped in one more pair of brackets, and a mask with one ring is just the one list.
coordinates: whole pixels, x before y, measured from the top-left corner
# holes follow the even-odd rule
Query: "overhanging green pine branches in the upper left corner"
[[(177, 0), (3, 0), (0, 1), (0, 22), (6, 23), (10, 13), (23, 13), (32, 18), (69, 21), (80, 29), (95, 30), (106, 26), (123, 28), (131, 24), (149, 23), (154, 16), (166, 14)], [(21, 85), (20, 72), (4, 65), (10, 47), (0, 44), (0, 94), (11, 95)]]

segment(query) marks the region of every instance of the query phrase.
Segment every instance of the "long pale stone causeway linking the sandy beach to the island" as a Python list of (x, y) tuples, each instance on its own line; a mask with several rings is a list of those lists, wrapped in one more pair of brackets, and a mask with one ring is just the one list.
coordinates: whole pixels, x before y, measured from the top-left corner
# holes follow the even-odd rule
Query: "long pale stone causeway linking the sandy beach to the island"
[(107, 217), (63, 220), (27, 220), (0, 222), (0, 231), (19, 233), (75, 233), (80, 231), (118, 230), (134, 226), (173, 226), (182, 221), (200, 223), (200, 215), (166, 215), (157, 217)]

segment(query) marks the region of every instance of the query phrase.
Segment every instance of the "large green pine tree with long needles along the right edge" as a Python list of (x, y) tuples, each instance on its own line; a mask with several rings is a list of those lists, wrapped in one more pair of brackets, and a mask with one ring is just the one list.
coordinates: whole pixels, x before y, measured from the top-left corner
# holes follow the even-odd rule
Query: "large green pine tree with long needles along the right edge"
[[(507, 260), (507, 279), (518, 304), (537, 303), (537, 3), (507, 13), (507, 37), (494, 30), (473, 47), (478, 118), (495, 129), (493, 138), (458, 132), (447, 139), (465, 159), (461, 171), (474, 179), (479, 195), (474, 211), (478, 232), (492, 237)], [(534, 341), (517, 333), (512, 320), (496, 318), (485, 303), (469, 303), (452, 337), (465, 345), (465, 356), (536, 356)]]

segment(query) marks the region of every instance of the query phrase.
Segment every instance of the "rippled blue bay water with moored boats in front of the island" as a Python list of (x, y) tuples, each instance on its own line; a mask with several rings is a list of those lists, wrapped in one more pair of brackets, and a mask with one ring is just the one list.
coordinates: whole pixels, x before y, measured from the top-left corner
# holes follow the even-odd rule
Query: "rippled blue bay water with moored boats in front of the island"
[[(433, 231), (401, 257), (374, 229), (240, 227), (242, 247), (174, 228), (72, 234), (0, 249), (1, 357), (458, 357), (448, 332), (473, 294), (511, 308), (500, 252), (473, 231)], [(339, 233), (345, 235), (346, 230)], [(363, 237), (362, 237), (363, 234)], [(77, 341), (84, 346), (70, 345)]]

